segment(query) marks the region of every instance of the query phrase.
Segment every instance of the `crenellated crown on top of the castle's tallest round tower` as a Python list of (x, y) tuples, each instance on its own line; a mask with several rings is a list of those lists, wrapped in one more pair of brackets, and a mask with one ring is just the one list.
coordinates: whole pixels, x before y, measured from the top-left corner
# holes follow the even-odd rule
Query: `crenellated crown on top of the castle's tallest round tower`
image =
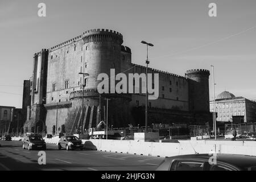
[(108, 29), (93, 29), (88, 30), (82, 34), (84, 44), (89, 42), (115, 42), (121, 46), (123, 43), (123, 36), (117, 31)]

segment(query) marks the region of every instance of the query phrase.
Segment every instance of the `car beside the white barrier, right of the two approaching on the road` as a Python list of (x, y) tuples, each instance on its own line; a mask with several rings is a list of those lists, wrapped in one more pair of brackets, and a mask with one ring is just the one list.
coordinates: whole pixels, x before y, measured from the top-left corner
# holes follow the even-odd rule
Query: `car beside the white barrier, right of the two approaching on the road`
[(65, 148), (66, 150), (84, 150), (84, 144), (82, 144), (82, 140), (80, 140), (76, 136), (64, 136), (61, 137), (58, 142), (58, 149), (61, 150), (61, 148)]

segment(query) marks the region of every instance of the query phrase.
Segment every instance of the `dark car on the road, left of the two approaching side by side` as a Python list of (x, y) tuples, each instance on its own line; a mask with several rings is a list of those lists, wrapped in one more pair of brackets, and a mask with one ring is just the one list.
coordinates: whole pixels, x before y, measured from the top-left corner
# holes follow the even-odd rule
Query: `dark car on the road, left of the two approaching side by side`
[(23, 140), (23, 149), (34, 150), (41, 149), (46, 150), (46, 142), (40, 135), (32, 134), (24, 138)]

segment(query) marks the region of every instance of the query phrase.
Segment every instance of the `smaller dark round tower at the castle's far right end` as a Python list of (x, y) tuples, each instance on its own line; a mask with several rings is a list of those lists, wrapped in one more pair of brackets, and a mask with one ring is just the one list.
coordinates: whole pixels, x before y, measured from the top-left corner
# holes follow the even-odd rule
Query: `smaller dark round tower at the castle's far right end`
[(207, 69), (191, 69), (189, 78), (189, 107), (191, 111), (209, 112), (209, 75)]

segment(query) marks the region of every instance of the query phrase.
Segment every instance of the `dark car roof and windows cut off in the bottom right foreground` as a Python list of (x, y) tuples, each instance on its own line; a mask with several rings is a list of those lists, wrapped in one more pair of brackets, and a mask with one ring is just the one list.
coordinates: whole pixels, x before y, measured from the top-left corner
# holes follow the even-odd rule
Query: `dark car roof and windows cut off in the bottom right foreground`
[(256, 171), (256, 156), (238, 154), (172, 156), (164, 159), (156, 171)]

